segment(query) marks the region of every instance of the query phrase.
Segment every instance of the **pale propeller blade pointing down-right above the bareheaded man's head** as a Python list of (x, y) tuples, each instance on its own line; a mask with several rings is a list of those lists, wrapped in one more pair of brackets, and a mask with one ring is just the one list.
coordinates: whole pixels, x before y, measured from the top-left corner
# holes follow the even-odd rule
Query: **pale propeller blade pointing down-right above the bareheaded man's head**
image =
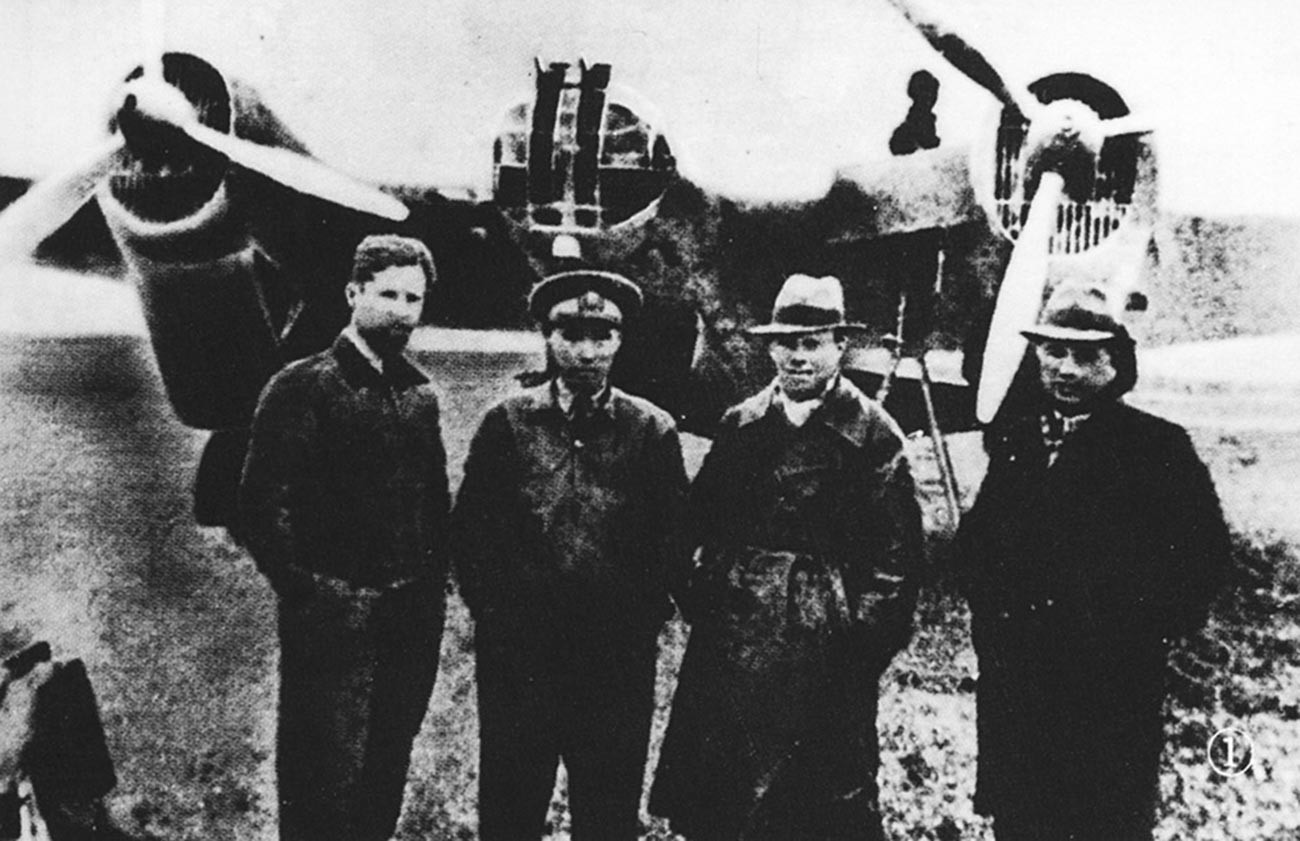
[(194, 120), (183, 122), (178, 127), (194, 142), (221, 152), (235, 164), (261, 173), (290, 190), (395, 222), (407, 217), (407, 207), (393, 196), (337, 173), (315, 159), (289, 149), (242, 140)]

